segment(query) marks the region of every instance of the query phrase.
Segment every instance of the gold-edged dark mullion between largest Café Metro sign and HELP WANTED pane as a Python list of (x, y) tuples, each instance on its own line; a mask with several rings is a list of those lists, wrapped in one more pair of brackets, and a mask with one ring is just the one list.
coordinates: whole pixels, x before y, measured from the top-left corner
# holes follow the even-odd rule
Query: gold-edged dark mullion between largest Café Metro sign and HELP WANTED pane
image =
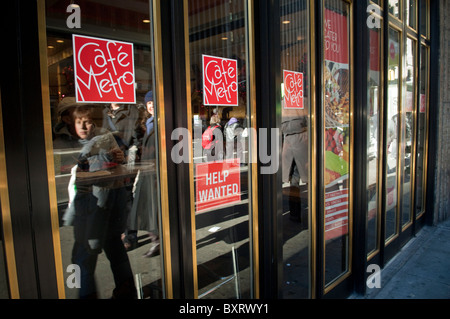
[[(157, 99), (164, 106), (163, 116), (158, 120), (163, 125), (160, 136), (160, 161), (162, 179), (166, 185), (161, 190), (162, 213), (169, 222), (170, 230), (170, 279), (172, 290), (169, 298), (193, 298), (193, 263), (190, 222), (190, 198), (185, 189), (189, 189), (189, 164), (176, 164), (171, 151), (178, 142), (172, 140), (172, 132), (177, 127), (187, 127), (186, 73), (184, 55), (183, 2), (154, 0), (155, 51), (156, 51), (156, 88)], [(161, 112), (162, 113), (162, 112)], [(170, 258), (170, 259), (168, 259)], [(165, 269), (168, 269), (165, 265)], [(167, 279), (167, 274), (166, 274)], [(170, 284), (169, 283), (169, 284)], [(166, 288), (167, 290), (167, 288)]]

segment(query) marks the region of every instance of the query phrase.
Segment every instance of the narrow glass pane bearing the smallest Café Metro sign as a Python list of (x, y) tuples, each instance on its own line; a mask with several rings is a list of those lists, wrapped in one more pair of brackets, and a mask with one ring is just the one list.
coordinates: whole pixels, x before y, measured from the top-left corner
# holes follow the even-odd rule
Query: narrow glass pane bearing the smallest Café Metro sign
[(280, 3), (283, 298), (309, 297), (309, 1)]

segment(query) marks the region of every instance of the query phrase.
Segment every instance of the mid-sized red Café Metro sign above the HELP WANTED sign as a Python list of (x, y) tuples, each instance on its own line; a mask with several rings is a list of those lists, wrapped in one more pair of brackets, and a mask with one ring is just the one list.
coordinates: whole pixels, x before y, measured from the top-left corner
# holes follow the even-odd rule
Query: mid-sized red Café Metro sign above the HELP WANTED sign
[(202, 55), (203, 104), (238, 105), (237, 60)]

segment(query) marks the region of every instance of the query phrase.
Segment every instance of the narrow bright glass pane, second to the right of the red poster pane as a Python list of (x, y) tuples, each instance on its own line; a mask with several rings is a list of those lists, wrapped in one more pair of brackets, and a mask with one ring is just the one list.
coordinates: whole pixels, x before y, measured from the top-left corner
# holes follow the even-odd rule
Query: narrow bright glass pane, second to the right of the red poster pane
[(389, 57), (388, 57), (388, 105), (386, 128), (386, 220), (385, 239), (397, 233), (397, 163), (399, 143), (399, 90), (400, 90), (400, 33), (389, 29)]

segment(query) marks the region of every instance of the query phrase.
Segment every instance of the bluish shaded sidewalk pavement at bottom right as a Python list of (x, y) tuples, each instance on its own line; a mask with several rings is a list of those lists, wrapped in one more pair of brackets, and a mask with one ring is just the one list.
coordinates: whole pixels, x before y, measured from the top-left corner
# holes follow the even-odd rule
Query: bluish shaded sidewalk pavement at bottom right
[(351, 299), (450, 299), (450, 219), (424, 226), (381, 270), (381, 288)]

